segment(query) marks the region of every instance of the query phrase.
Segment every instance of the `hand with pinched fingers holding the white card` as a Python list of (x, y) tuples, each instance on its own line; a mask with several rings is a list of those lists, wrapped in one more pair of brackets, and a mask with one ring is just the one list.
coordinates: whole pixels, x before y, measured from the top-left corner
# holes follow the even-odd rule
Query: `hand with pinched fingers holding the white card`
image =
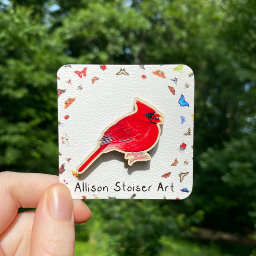
[[(0, 256), (73, 255), (74, 223), (91, 211), (58, 182), (49, 174), (0, 173)], [(17, 213), (20, 207), (37, 210)]]

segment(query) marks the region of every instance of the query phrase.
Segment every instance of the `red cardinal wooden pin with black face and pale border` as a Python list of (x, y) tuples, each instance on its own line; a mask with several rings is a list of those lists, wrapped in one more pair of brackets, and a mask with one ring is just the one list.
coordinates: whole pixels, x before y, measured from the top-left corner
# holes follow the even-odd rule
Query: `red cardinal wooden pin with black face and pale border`
[(130, 166), (151, 159), (147, 151), (158, 143), (164, 115), (139, 98), (134, 98), (134, 108), (102, 132), (98, 146), (77, 167), (77, 172), (83, 173), (101, 154), (112, 150), (122, 152)]

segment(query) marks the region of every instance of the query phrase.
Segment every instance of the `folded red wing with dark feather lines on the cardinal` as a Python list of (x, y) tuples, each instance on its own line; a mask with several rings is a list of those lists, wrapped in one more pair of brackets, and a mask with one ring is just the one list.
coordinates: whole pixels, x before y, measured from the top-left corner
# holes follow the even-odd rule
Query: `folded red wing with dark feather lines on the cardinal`
[(102, 138), (100, 139), (100, 146), (127, 141), (135, 138), (138, 135), (137, 130), (134, 129), (129, 122), (123, 122), (124, 120), (120, 121), (110, 126), (110, 128), (103, 134)]

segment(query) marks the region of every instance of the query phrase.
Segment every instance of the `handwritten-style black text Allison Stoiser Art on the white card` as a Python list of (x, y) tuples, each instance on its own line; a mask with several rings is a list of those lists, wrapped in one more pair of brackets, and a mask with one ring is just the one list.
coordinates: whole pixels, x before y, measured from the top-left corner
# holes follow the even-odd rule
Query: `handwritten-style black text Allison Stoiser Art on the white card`
[(111, 188), (109, 186), (91, 185), (87, 182), (77, 182), (74, 192), (174, 192), (173, 183), (162, 183), (159, 182), (155, 185), (143, 185), (143, 184), (127, 184), (125, 182), (116, 182)]

